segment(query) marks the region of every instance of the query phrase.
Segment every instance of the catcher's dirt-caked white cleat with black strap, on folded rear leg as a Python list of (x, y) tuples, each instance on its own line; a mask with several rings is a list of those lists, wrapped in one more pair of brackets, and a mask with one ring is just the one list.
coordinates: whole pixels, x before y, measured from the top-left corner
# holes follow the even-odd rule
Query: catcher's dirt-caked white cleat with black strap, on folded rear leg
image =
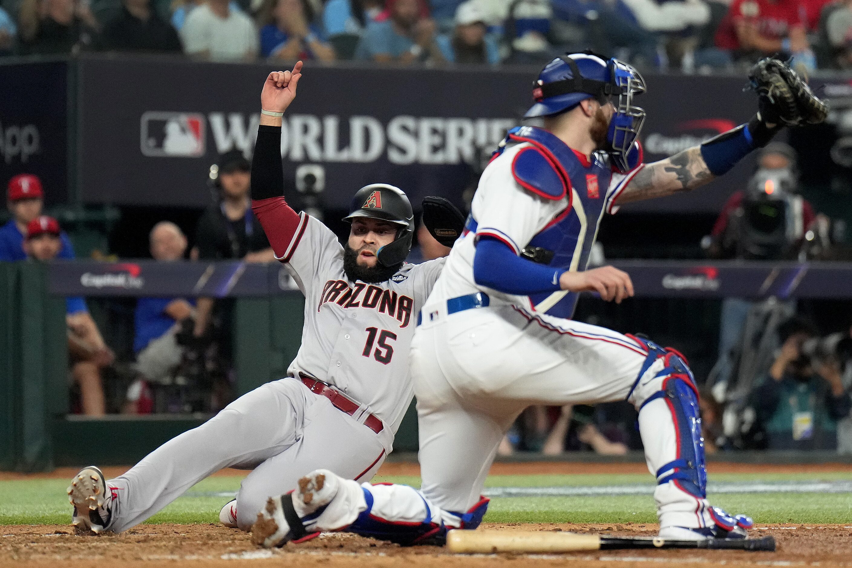
[(257, 520), (251, 525), (251, 542), (273, 548), (318, 535), (319, 532), (305, 529), (302, 518), (328, 505), (337, 495), (338, 486), (337, 475), (318, 469), (299, 479), (296, 491), (269, 497), (266, 507), (257, 513)]

